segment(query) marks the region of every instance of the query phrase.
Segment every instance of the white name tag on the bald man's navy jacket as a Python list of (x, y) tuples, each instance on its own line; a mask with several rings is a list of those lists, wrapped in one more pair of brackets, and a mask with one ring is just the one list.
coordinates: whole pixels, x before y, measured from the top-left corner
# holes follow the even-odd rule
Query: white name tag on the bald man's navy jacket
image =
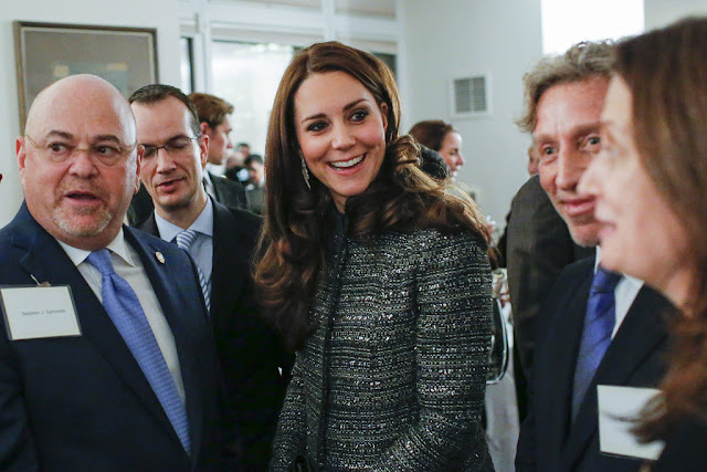
[(81, 336), (68, 285), (4, 287), (0, 300), (11, 340)]

